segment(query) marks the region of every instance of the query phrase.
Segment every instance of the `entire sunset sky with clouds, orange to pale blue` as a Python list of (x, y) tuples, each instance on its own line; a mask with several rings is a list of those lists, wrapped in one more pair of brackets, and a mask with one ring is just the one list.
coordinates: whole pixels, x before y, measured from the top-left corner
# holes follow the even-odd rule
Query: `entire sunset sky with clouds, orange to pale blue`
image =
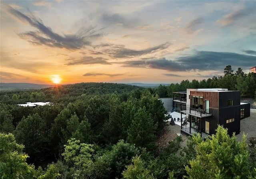
[(2, 83), (170, 84), (226, 65), (256, 66), (256, 1), (0, 2)]

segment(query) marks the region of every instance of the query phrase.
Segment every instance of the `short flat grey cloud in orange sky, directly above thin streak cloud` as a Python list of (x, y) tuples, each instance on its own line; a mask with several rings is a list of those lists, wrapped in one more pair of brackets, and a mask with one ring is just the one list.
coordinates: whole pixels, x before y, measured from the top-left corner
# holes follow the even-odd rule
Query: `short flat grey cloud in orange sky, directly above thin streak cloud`
[(102, 64), (102, 65), (111, 65), (107, 62), (108, 59), (102, 57), (82, 57), (81, 59), (68, 59), (72, 62), (68, 62), (65, 65), (89, 65), (89, 64)]

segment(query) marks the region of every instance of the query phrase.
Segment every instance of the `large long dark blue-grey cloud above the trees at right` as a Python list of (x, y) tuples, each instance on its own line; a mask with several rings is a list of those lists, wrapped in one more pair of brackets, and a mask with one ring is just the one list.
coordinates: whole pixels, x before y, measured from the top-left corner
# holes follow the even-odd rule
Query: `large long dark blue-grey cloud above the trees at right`
[(122, 62), (124, 67), (162, 69), (166, 71), (224, 70), (226, 65), (248, 68), (255, 64), (256, 57), (230, 52), (196, 51), (195, 54), (178, 57), (176, 60), (142, 59)]

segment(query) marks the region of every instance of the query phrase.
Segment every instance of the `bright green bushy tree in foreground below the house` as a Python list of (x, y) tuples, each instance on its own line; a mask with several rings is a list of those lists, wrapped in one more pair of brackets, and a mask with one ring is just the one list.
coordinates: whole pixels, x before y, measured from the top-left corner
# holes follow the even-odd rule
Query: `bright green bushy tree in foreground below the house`
[(218, 126), (216, 135), (201, 141), (200, 136), (193, 136), (196, 142), (196, 158), (186, 166), (189, 179), (204, 178), (247, 178), (251, 175), (251, 163), (247, 150), (246, 136), (238, 142), (228, 131)]

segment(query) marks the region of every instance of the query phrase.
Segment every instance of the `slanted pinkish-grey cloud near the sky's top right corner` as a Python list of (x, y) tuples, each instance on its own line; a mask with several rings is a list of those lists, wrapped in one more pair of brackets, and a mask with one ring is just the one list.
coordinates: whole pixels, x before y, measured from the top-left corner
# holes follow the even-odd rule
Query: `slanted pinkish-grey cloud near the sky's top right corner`
[(246, 16), (249, 16), (251, 13), (256, 12), (256, 6), (250, 8), (243, 8), (227, 14), (224, 18), (217, 20), (217, 23), (220, 23), (222, 26), (230, 26), (234, 24), (234, 21), (242, 19)]

